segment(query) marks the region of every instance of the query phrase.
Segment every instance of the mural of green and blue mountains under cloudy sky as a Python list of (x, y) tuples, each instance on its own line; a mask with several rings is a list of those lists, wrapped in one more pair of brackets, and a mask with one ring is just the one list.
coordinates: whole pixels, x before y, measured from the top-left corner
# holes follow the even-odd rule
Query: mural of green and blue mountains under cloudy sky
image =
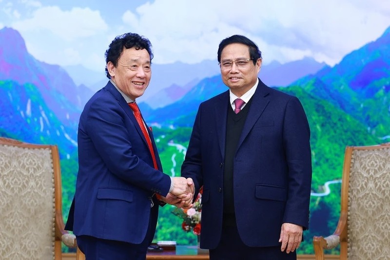
[[(390, 141), (386, 1), (51, 2), (0, 0), (0, 136), (59, 146), (65, 219), (78, 171), (79, 115), (108, 80), (108, 44), (129, 31), (153, 44), (152, 81), (138, 102), (169, 175), (180, 175), (199, 103), (227, 90), (216, 62), (220, 40), (253, 39), (263, 52), (259, 77), (301, 100), (313, 178), (299, 254), (312, 254), (312, 237), (337, 225), (345, 146)], [(194, 244), (173, 210), (161, 209), (155, 240)]]

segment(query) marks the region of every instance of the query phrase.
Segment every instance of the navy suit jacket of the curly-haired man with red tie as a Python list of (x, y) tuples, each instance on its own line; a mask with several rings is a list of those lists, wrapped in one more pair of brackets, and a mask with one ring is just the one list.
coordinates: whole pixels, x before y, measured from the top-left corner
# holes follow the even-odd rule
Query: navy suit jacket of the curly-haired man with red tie
[(160, 171), (132, 110), (110, 81), (87, 102), (78, 125), (79, 169), (67, 223), (74, 234), (140, 243), (150, 218), (156, 228), (151, 197), (166, 196), (171, 180), (161, 172), (148, 131)]

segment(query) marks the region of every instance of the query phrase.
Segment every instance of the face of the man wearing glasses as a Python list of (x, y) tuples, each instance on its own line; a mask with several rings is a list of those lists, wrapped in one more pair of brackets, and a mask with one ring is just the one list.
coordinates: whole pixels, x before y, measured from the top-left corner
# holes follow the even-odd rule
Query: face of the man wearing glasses
[[(249, 47), (241, 43), (226, 45), (221, 52), (221, 64), (232, 60), (245, 61), (250, 58)], [(261, 62), (261, 59), (258, 59), (256, 60), (256, 64), (253, 64), (253, 60), (249, 60), (245, 65), (241, 65), (241, 67), (238, 67), (236, 62), (233, 62), (232, 67), (228, 69), (223, 68), (221, 65), (222, 81), (230, 88), (234, 95), (241, 97), (256, 83)]]

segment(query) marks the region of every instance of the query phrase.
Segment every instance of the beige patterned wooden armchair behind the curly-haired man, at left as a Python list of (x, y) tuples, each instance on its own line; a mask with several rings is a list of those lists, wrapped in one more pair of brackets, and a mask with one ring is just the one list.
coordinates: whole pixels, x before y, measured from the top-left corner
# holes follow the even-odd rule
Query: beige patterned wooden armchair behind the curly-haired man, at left
[(0, 138), (1, 260), (60, 260), (61, 242), (77, 247), (61, 198), (57, 146)]

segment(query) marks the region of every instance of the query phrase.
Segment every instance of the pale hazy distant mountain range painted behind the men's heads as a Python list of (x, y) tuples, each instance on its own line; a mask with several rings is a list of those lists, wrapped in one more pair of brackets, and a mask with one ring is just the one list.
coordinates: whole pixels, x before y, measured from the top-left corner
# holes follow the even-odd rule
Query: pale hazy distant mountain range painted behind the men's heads
[[(273, 61), (261, 67), (261, 79), (269, 86), (287, 86), (304, 76), (315, 74), (326, 66), (312, 58), (304, 58), (281, 64)], [(96, 92), (107, 83), (104, 66), (101, 71), (93, 71), (81, 65), (65, 66), (64, 69), (77, 85), (85, 85)], [(147, 91), (137, 99), (150, 108), (165, 107), (187, 94), (204, 78), (219, 75), (220, 70), (216, 60), (203, 60), (195, 64), (175, 62), (172, 64), (152, 64), (152, 80)], [(283, 75), (283, 77), (280, 77)]]

